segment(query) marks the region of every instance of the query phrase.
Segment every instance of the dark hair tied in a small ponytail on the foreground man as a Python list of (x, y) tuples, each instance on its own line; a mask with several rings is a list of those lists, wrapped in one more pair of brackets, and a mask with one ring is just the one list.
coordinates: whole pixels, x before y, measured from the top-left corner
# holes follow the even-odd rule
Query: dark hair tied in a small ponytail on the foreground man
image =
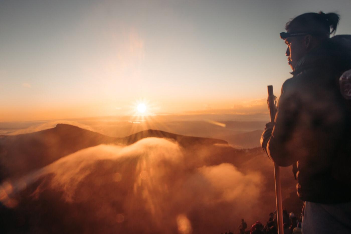
[(330, 34), (336, 32), (339, 20), (340, 15), (336, 13), (309, 12), (287, 22), (285, 29), (294, 32), (317, 32), (329, 37)]

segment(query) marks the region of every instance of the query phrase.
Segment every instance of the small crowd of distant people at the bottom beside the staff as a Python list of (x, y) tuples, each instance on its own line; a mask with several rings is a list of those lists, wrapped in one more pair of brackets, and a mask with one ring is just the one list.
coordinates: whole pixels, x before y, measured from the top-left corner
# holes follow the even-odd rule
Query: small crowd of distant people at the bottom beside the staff
[[(301, 222), (295, 216), (294, 213), (288, 213), (283, 210), (283, 223), (284, 223), (284, 234), (301, 234)], [(241, 223), (238, 227), (238, 234), (278, 234), (278, 221), (277, 213), (269, 214), (267, 223), (263, 224), (260, 221), (256, 221), (252, 224), (251, 228), (248, 229), (247, 223), (244, 219), (241, 219)], [(223, 233), (221, 233), (223, 234)], [(233, 234), (230, 230), (224, 234)]]

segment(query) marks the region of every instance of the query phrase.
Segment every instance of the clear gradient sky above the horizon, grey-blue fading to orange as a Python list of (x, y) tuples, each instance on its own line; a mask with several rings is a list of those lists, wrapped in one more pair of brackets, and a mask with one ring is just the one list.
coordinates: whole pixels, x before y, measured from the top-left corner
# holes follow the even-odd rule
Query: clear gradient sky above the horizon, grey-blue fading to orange
[[(0, 122), (266, 106), (290, 18), (351, 1), (0, 0)], [(239, 108), (240, 109), (240, 108)], [(212, 110), (212, 111), (211, 111)]]

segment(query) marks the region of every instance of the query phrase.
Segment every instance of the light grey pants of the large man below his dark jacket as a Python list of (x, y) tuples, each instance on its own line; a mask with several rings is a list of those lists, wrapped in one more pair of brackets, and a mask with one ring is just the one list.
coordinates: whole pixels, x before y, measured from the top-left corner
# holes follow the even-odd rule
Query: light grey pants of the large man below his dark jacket
[(303, 234), (351, 234), (351, 202), (320, 204), (305, 202)]

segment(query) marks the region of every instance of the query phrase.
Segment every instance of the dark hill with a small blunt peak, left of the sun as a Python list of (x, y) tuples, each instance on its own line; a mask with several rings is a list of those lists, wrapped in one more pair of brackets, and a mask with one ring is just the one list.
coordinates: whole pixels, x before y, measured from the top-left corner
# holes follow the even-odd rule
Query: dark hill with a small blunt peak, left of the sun
[(3, 136), (0, 138), (0, 179), (22, 175), (80, 149), (117, 140), (66, 124), (35, 133)]

